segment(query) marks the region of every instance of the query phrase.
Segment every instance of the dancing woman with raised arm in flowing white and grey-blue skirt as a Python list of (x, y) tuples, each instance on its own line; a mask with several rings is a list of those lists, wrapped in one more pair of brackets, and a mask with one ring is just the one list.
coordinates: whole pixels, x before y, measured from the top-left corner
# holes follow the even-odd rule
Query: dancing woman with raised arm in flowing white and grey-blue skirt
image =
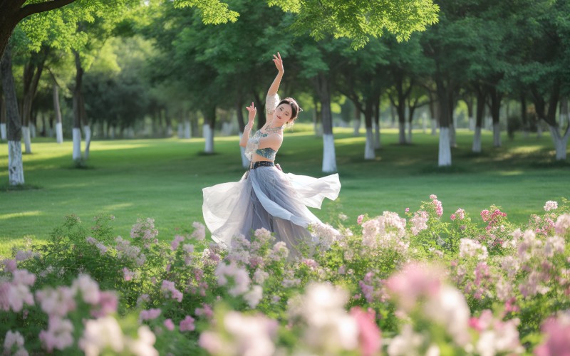
[(320, 220), (307, 206), (321, 208), (324, 198), (334, 200), (341, 190), (338, 174), (314, 178), (284, 174), (275, 156), (284, 138), (284, 127), (294, 124), (299, 105), (293, 98), (279, 100), (277, 90), (284, 74), (281, 55), (274, 55), (278, 73), (266, 98), (266, 124), (250, 137), (257, 110), (249, 105), (249, 120), (239, 145), (246, 147), (250, 160), (248, 171), (239, 182), (217, 184), (202, 189), (204, 221), (212, 239), (231, 248), (232, 238), (243, 235), (250, 239), (257, 229), (274, 233), (276, 241), (284, 241), (291, 256), (299, 256), (299, 244), (311, 244), (309, 224)]

